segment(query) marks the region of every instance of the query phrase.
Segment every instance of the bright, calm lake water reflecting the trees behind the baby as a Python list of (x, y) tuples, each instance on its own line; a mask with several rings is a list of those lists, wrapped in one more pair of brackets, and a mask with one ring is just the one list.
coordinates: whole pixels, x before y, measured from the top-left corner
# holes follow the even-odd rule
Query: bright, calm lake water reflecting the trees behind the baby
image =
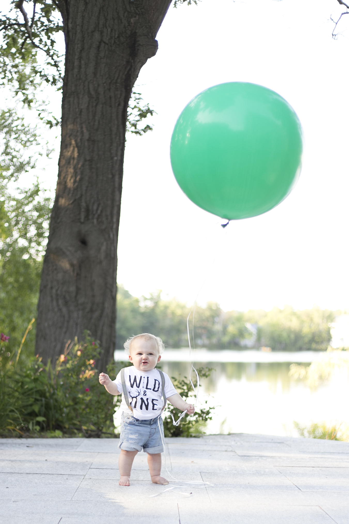
[[(214, 368), (202, 379), (199, 403), (215, 406), (207, 433), (261, 433), (297, 436), (294, 421), (349, 423), (349, 381), (336, 376), (328, 383), (310, 388), (288, 376), (291, 363), (309, 365), (319, 352), (208, 351), (191, 353), (195, 367)], [(115, 352), (125, 360), (123, 351)], [(161, 368), (170, 377), (188, 376), (188, 350), (166, 350)], [(117, 416), (117, 419), (119, 417)]]

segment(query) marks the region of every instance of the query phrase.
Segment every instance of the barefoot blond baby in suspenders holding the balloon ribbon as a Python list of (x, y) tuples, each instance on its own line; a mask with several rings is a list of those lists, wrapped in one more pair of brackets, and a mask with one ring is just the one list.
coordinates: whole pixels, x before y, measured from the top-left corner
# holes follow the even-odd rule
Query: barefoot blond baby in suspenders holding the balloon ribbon
[(168, 375), (155, 369), (164, 350), (164, 344), (159, 337), (142, 333), (129, 337), (124, 347), (133, 366), (121, 370), (115, 380), (111, 380), (105, 373), (99, 375), (100, 384), (111, 395), (122, 394), (119, 484), (130, 485), (133, 459), (142, 449), (148, 453), (152, 482), (168, 484), (160, 475), (161, 453), (164, 451), (160, 434), (161, 431), (164, 438), (161, 413), (166, 399), (176, 408), (187, 410), (189, 414), (193, 414), (195, 409), (193, 404), (185, 402), (176, 392)]

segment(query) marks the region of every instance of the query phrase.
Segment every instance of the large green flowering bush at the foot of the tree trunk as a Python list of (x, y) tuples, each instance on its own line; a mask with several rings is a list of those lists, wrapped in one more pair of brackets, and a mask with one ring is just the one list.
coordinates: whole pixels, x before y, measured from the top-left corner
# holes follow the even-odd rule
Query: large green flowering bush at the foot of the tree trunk
[[(12, 356), (3, 354), (0, 432), (115, 436), (113, 414), (121, 398), (114, 400), (99, 384), (99, 353), (98, 343), (86, 334), (83, 342), (67, 344), (54, 366), (43, 366), (36, 356), (17, 370)], [(107, 373), (117, 372), (111, 363)]]

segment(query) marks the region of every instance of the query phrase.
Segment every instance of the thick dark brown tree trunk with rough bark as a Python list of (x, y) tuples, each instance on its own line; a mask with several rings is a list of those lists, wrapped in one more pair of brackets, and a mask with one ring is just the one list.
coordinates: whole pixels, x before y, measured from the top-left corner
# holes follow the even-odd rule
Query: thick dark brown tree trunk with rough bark
[(116, 337), (117, 239), (127, 108), (171, 0), (61, 0), (66, 43), (58, 183), (38, 304), (54, 362), (84, 330), (104, 369)]

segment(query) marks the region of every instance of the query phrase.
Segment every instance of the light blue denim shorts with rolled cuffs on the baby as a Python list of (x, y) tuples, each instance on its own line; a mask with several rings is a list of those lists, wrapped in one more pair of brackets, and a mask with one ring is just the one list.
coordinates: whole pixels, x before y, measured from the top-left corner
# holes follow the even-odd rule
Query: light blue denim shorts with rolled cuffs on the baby
[(145, 453), (163, 453), (164, 446), (157, 419), (159, 419), (162, 438), (164, 438), (161, 415), (155, 419), (139, 420), (132, 416), (131, 411), (129, 413), (123, 411), (119, 448), (125, 451), (142, 451), (143, 449)]

